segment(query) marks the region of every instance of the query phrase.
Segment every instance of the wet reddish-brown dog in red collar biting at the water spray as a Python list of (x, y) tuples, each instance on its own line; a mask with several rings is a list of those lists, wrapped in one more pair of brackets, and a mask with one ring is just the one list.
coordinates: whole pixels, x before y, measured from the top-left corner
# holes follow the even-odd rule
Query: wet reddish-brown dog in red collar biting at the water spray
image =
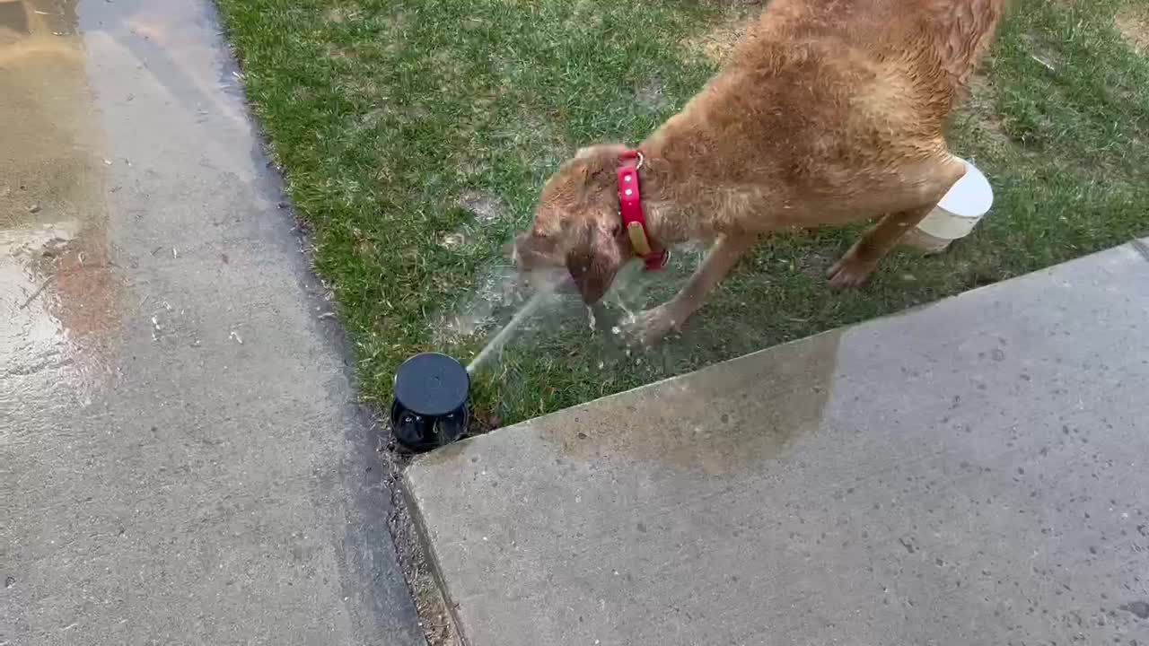
[[(944, 122), (1005, 0), (773, 0), (731, 61), (638, 151), (651, 246), (714, 240), (671, 301), (632, 324), (681, 325), (762, 236), (881, 216), (830, 269), (863, 284), (965, 172)], [(626, 147), (584, 148), (542, 190), (515, 244), (527, 271), (565, 268), (599, 301), (634, 244), (619, 215)]]

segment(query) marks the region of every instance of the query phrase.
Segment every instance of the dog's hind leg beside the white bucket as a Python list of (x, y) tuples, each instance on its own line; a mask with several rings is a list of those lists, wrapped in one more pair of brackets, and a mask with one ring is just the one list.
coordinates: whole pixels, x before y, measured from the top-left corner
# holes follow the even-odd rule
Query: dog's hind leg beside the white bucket
[(873, 274), (878, 263), (897, 245), (910, 229), (918, 225), (946, 192), (965, 175), (965, 164), (957, 157), (943, 160), (930, 171), (923, 193), (927, 200), (908, 208), (892, 209), (878, 224), (866, 231), (857, 243), (834, 263), (827, 272), (830, 285), (835, 289), (858, 287)]

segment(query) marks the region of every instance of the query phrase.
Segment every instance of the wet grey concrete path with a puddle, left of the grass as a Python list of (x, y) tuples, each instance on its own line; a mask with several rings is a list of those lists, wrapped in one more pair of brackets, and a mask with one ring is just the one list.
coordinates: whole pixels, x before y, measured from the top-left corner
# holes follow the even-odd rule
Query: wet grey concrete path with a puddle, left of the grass
[(418, 644), (205, 1), (0, 0), (0, 645)]

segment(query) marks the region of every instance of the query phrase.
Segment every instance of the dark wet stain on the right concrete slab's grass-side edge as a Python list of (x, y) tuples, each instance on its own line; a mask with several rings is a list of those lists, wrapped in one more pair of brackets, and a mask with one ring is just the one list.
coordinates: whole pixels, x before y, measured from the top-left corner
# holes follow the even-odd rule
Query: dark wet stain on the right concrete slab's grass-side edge
[[(626, 455), (705, 474), (730, 474), (785, 455), (822, 425), (840, 331), (773, 348), (648, 389), (651, 405), (585, 407), (550, 425), (532, 422), (570, 460)], [(610, 400), (608, 400), (610, 401)], [(641, 410), (642, 413), (639, 413)], [(646, 417), (655, 413), (655, 420)]]

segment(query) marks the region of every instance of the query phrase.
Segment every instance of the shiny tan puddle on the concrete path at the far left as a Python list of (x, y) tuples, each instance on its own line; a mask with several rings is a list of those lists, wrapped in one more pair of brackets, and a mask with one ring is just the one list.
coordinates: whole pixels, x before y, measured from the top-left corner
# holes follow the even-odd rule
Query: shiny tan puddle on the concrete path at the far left
[(31, 422), (91, 400), (115, 278), (75, 2), (8, 2), (0, 21), (0, 416)]

